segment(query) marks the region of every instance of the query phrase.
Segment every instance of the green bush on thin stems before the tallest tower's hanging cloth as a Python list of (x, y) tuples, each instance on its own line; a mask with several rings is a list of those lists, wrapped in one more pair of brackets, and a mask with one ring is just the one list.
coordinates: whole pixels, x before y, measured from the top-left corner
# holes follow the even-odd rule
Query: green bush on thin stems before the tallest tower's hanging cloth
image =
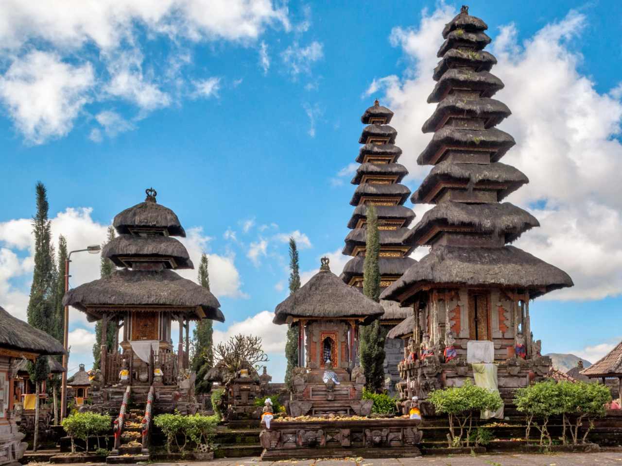
[[(434, 404), (437, 413), (449, 416), (450, 446), (462, 444), (466, 428), (467, 447), (470, 445), (473, 413), (484, 409), (496, 411), (501, 408), (502, 403), (499, 393), (475, 386), (470, 379), (466, 379), (464, 385), (460, 387), (452, 386), (432, 391), (429, 400)], [(459, 428), (458, 434), (454, 429), (456, 422)]]

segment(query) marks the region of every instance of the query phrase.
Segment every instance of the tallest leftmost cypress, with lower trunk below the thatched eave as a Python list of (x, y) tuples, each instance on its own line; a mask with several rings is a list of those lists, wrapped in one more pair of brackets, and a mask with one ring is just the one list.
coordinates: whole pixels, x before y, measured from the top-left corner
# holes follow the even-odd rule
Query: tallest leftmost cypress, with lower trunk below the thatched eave
[[(54, 324), (54, 291), (55, 267), (53, 260), (51, 222), (48, 218), (49, 203), (47, 190), (39, 181), (35, 187), (37, 213), (32, 218), (32, 234), (35, 240), (34, 271), (30, 286), (30, 299), (27, 308), (28, 323), (33, 327), (55, 334)], [(39, 442), (39, 392), (41, 382), (50, 372), (47, 357), (40, 356), (34, 363), (29, 363), (30, 380), (35, 383), (35, 428), (33, 449), (37, 450)]]

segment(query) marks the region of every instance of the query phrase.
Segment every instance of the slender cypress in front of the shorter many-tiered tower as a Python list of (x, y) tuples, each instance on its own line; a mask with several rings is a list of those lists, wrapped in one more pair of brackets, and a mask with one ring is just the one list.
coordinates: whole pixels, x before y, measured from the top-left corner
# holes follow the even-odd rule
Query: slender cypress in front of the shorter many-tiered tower
[[(365, 261), (363, 264), (363, 293), (376, 303), (380, 300), (380, 239), (378, 215), (371, 205), (367, 209), (367, 237), (365, 242)], [(384, 330), (378, 320), (361, 327), (361, 365), (368, 390), (382, 391), (384, 385)]]

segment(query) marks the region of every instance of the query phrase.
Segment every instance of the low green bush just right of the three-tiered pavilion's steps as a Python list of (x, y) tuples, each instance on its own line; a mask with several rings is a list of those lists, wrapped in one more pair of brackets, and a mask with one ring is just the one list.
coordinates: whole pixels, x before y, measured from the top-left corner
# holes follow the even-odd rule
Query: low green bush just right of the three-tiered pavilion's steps
[[(162, 429), (166, 436), (166, 449), (169, 454), (173, 444), (177, 446), (180, 453), (187, 452), (188, 441), (197, 449), (198, 445), (206, 444), (211, 450), (213, 438), (216, 433), (216, 416), (183, 416), (182, 414), (159, 414), (154, 418), (154, 424)], [(183, 441), (180, 442), (180, 439)]]

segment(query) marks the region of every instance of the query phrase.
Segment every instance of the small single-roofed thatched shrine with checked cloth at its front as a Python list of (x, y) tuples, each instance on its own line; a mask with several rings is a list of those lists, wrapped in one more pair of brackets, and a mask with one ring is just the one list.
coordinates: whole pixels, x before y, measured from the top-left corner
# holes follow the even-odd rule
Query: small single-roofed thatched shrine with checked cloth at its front
[(380, 304), (330, 272), (327, 257), (320, 272), (276, 307), (275, 324), (297, 322), (299, 328), (293, 399), (285, 406), (290, 416), (371, 412), (371, 400), (362, 399), (359, 326), (383, 313)]

